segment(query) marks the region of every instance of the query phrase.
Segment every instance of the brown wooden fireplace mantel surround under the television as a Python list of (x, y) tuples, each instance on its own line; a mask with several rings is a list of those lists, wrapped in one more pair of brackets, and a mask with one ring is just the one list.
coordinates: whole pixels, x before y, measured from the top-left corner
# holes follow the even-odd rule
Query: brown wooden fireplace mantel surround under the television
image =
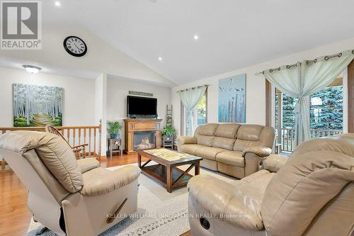
[(156, 148), (161, 147), (160, 124), (162, 119), (124, 119), (126, 154), (136, 153), (134, 150), (134, 133), (139, 131), (154, 131), (156, 133)]

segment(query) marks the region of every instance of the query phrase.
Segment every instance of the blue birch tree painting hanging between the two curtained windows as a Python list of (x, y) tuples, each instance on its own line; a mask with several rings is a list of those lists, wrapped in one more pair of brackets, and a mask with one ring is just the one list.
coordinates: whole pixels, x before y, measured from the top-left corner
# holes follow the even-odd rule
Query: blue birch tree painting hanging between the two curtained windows
[(219, 122), (246, 123), (246, 74), (219, 79)]

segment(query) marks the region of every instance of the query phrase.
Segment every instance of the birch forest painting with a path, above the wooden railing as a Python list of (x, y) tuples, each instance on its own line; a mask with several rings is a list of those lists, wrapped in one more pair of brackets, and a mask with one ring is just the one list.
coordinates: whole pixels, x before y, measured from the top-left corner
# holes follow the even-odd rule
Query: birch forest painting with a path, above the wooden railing
[(63, 89), (13, 84), (13, 127), (62, 126)]

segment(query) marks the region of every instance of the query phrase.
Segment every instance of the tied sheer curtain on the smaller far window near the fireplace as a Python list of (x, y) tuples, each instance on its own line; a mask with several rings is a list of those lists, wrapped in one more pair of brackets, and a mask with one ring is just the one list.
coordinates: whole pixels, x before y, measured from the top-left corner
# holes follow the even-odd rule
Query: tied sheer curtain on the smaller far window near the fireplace
[(187, 117), (188, 129), (187, 136), (193, 136), (193, 109), (198, 105), (200, 99), (205, 94), (205, 90), (207, 89), (207, 85), (198, 86), (190, 89), (184, 89), (181, 91), (177, 91), (179, 96), (181, 97), (181, 102), (185, 107), (185, 115)]

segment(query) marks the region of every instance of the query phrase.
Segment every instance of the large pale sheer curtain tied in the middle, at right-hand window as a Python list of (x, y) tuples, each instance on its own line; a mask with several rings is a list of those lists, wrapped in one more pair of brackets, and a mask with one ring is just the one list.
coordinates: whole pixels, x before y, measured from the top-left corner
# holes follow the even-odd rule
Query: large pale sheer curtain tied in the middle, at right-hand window
[(295, 146), (311, 138), (309, 96), (331, 84), (353, 58), (354, 50), (348, 50), (263, 72), (265, 79), (277, 89), (298, 99), (295, 105)]

